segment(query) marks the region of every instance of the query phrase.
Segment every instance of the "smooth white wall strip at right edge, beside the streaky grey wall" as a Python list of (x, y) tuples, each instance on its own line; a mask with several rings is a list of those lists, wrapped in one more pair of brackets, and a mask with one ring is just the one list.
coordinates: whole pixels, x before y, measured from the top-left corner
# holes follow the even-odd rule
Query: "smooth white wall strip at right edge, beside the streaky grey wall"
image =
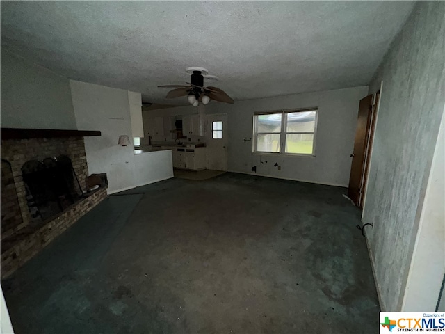
[(445, 274), (445, 114), (436, 149), (402, 310), (434, 311)]

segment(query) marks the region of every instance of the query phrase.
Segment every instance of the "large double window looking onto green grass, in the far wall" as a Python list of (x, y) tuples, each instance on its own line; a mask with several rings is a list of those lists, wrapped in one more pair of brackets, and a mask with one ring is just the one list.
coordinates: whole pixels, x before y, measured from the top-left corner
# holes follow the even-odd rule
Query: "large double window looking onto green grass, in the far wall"
[(314, 154), (318, 109), (254, 115), (254, 152)]

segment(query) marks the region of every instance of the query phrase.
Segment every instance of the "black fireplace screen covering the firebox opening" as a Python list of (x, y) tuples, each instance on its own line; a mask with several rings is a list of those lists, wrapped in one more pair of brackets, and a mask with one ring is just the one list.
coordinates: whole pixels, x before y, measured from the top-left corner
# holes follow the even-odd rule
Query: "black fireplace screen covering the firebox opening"
[(47, 220), (81, 198), (80, 184), (74, 185), (71, 160), (64, 155), (27, 161), (22, 166), (22, 177), (33, 220)]

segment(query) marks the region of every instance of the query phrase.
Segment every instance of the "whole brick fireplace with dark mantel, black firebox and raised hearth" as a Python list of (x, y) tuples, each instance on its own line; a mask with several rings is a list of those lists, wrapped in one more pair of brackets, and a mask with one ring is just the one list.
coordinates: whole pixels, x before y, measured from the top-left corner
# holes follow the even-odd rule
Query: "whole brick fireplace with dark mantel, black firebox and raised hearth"
[[(97, 135), (100, 132), (2, 129), (1, 278), (106, 198), (106, 186), (86, 189), (83, 136)], [(47, 189), (35, 190), (45, 182)]]

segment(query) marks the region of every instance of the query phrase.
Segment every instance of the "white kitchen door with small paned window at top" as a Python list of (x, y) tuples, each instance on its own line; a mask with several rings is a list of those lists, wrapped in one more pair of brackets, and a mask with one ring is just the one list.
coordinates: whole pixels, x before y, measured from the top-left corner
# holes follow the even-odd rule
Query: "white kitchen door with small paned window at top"
[(227, 113), (207, 115), (207, 169), (227, 170)]

